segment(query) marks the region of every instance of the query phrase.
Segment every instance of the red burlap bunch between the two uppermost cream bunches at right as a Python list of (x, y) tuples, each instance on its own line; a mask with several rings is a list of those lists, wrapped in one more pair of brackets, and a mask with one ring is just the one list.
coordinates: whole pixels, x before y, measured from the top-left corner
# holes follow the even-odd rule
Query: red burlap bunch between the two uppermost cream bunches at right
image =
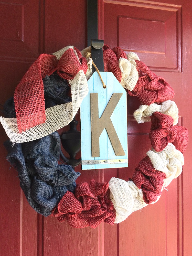
[(163, 102), (174, 97), (173, 88), (164, 78), (154, 74), (142, 61), (135, 60), (139, 79), (135, 88), (129, 91), (131, 96), (137, 96), (142, 105)]

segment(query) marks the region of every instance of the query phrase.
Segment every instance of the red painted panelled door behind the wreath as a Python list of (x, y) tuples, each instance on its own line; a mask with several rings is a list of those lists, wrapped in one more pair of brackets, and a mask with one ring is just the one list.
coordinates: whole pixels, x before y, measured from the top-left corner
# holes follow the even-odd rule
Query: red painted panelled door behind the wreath
[[(191, 117), (192, 3), (189, 0), (98, 0), (99, 37), (110, 47), (135, 51), (155, 73), (174, 88), (179, 124)], [(0, 3), (0, 103), (42, 53), (66, 45), (86, 47), (85, 0), (5, 0)], [(94, 178), (131, 177), (150, 149), (150, 124), (137, 124), (136, 98), (127, 96), (129, 168), (84, 170), (77, 182)], [(182, 175), (163, 191), (160, 200), (134, 212), (124, 222), (96, 229), (74, 229), (56, 218), (44, 218), (28, 205), (17, 172), (6, 162), (1, 135), (1, 255), (3, 256), (189, 256), (192, 255), (190, 171), (192, 143), (184, 154)], [(77, 168), (80, 170), (80, 167)]]

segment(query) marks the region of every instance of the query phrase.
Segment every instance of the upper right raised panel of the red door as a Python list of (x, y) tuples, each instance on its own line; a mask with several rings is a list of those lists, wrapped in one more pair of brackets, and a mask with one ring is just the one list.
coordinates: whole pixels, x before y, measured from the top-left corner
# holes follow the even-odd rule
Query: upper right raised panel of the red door
[(99, 14), (100, 37), (112, 47), (137, 52), (152, 70), (181, 71), (181, 5), (108, 0)]

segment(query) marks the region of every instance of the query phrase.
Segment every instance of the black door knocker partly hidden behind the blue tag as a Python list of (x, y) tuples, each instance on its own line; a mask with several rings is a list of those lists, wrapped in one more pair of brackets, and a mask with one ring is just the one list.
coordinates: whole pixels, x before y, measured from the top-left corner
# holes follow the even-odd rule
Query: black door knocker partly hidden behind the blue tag
[(60, 151), (60, 155), (63, 161), (74, 169), (81, 163), (81, 157), (75, 159), (75, 156), (81, 150), (81, 133), (77, 130), (78, 121), (75, 120), (75, 117), (69, 125), (69, 131), (63, 132), (60, 138), (63, 148), (70, 155), (70, 159), (67, 159), (62, 151)]

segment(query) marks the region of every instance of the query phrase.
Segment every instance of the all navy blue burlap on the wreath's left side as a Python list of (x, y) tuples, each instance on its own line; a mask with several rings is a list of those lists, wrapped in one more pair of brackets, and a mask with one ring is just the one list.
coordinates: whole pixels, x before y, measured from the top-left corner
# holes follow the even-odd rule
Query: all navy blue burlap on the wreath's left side
[[(45, 108), (67, 103), (69, 84), (57, 74), (43, 79)], [(6, 117), (16, 117), (13, 97), (6, 101)], [(67, 190), (74, 192), (75, 180), (80, 173), (74, 172), (69, 165), (58, 164), (60, 155), (60, 137), (54, 132), (41, 139), (15, 143), (10, 140), (4, 143), (7, 160), (18, 171), (20, 186), (29, 204), (39, 214), (48, 216)], [(12, 145), (12, 146), (11, 146)]]

